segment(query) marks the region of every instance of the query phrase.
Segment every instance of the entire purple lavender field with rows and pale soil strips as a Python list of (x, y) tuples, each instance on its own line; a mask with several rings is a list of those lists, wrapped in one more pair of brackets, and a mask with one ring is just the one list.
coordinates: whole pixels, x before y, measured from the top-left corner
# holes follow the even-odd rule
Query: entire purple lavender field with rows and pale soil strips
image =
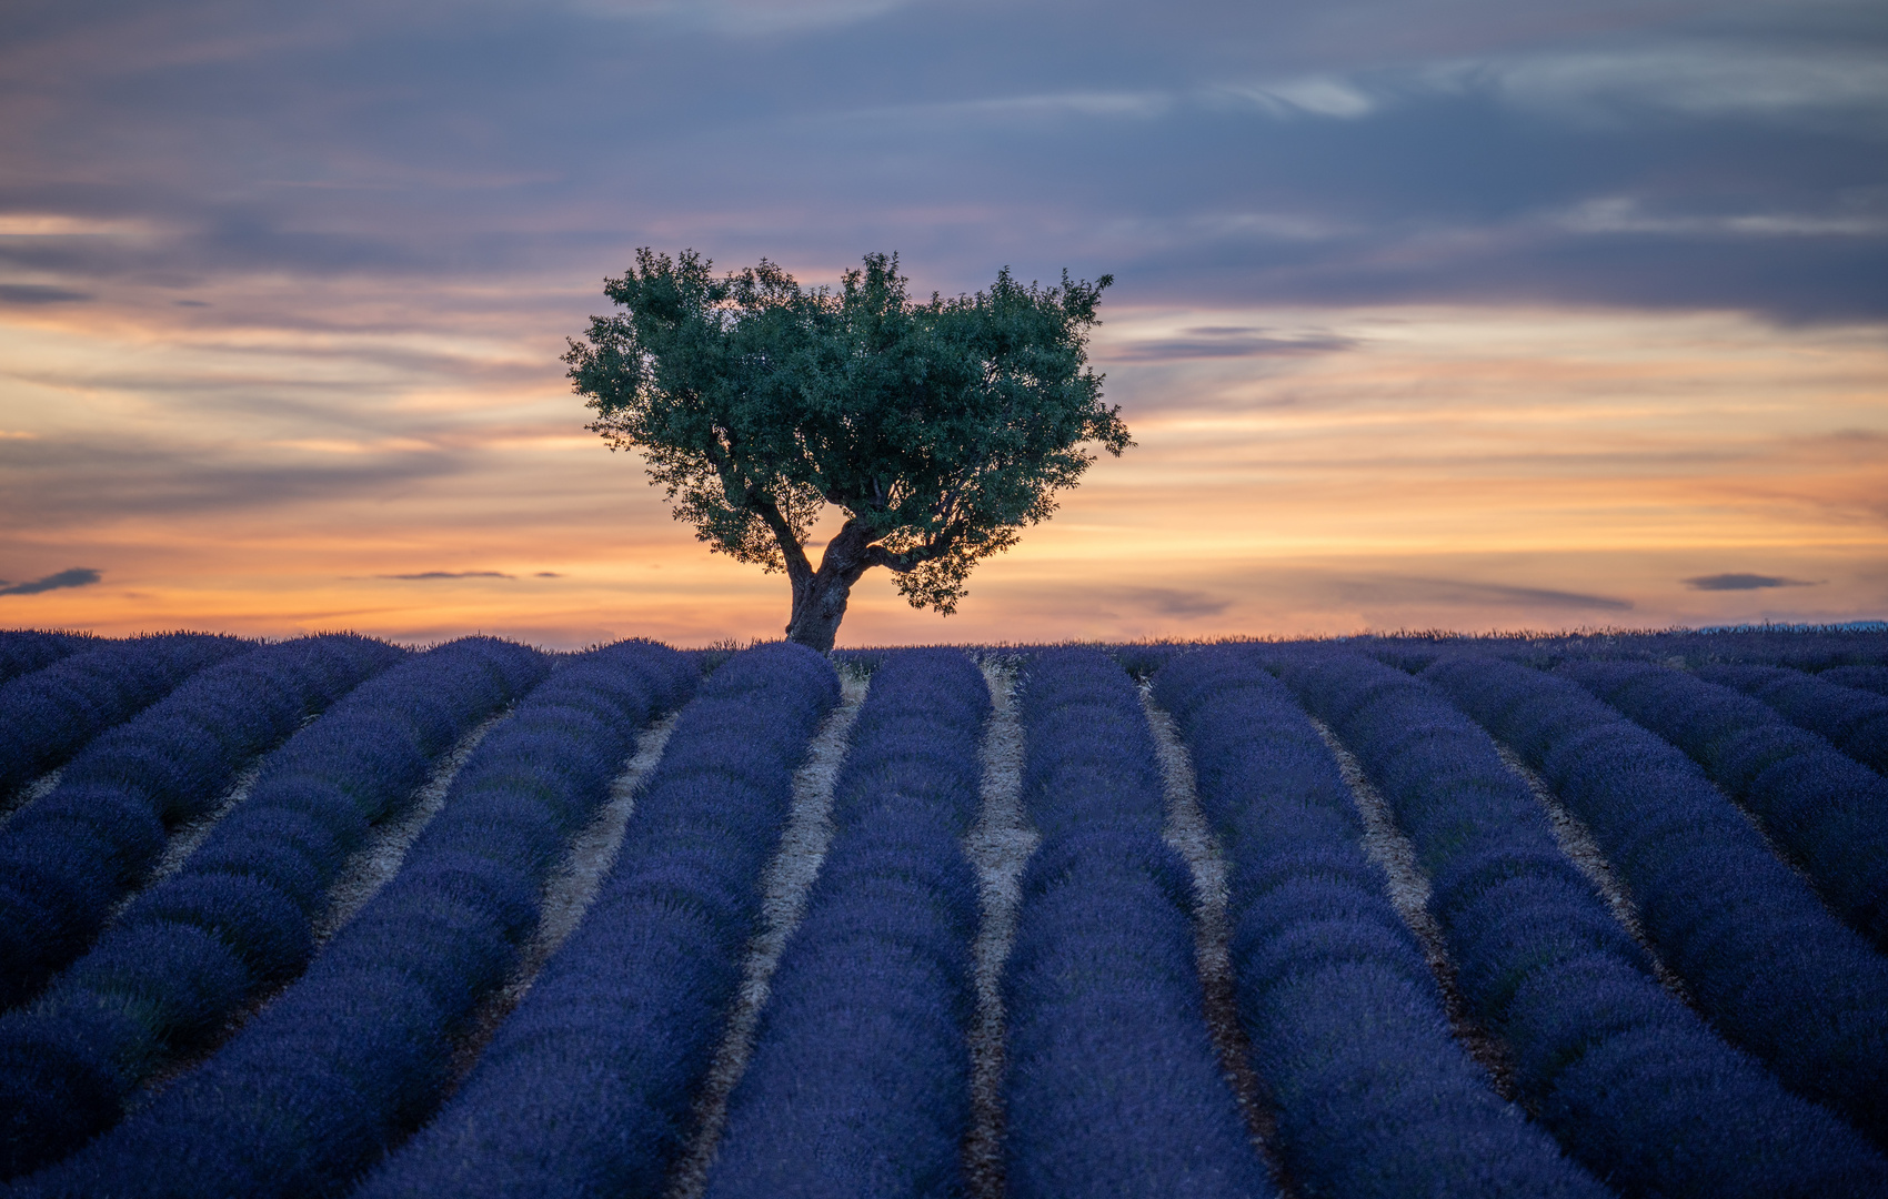
[(1888, 633), (0, 633), (0, 1193), (1888, 1193)]

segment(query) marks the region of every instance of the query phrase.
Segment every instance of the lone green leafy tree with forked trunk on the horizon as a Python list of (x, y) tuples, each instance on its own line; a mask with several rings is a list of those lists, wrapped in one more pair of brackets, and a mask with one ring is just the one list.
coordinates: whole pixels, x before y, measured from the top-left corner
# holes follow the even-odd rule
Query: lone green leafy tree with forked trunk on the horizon
[[(591, 317), (565, 361), (610, 449), (640, 449), (676, 519), (710, 549), (785, 570), (787, 636), (831, 650), (851, 585), (897, 574), (914, 608), (950, 616), (978, 559), (1055, 512), (1089, 463), (1082, 442), (1133, 446), (1086, 366), (1112, 276), (910, 298), (897, 255), (867, 255), (840, 289), (780, 266), (723, 278), (695, 251), (636, 251), (606, 279), (625, 312)], [(806, 534), (846, 523), (819, 568)]]

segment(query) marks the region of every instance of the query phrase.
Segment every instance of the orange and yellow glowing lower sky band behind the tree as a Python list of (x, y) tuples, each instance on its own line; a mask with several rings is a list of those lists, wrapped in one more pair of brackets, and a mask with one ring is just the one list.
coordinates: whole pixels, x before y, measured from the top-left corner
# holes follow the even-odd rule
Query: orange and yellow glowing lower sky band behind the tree
[[(640, 464), (583, 432), (561, 340), (515, 338), (480, 302), (461, 296), (451, 325), (372, 295), (330, 308), (346, 323), (278, 323), (266, 289), (219, 298), (253, 312), (234, 329), (155, 306), (9, 313), (0, 576), (104, 582), (0, 595), (0, 627), (778, 636), (785, 580), (676, 525)], [(1323, 340), (1148, 349), (1199, 327)], [(1735, 313), (1114, 312), (1095, 359), (1138, 446), (984, 563), (955, 617), (868, 574), (840, 644), (1882, 617), (1882, 334)], [(1686, 582), (1718, 574), (1778, 585)]]

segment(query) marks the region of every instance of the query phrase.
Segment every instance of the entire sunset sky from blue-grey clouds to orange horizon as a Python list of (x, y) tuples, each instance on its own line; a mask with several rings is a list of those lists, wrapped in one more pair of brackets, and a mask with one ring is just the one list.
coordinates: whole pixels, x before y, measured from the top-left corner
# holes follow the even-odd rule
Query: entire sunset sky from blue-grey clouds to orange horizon
[(1138, 446), (840, 646), (1888, 617), (1879, 0), (15, 0), (0, 627), (778, 636), (563, 378), (638, 245), (1114, 274)]

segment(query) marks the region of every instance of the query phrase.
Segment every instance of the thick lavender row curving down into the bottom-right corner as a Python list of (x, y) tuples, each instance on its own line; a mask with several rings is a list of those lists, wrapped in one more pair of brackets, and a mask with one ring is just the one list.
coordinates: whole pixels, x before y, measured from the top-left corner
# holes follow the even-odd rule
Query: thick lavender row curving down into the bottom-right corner
[(1576, 1159), (1627, 1195), (1811, 1199), (1888, 1182), (1852, 1129), (1658, 986), (1526, 784), (1435, 687), (1354, 655), (1305, 655), (1286, 678), (1378, 780), (1431, 872), (1463, 995)]

